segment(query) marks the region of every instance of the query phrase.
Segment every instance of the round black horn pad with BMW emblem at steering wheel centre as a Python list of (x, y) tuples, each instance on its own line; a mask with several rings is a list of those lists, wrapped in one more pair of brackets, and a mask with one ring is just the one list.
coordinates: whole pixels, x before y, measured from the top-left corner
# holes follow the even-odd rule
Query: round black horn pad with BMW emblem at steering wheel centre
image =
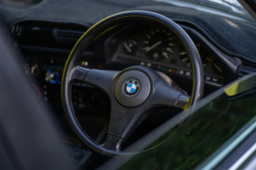
[(130, 70), (123, 73), (115, 82), (114, 95), (124, 107), (137, 107), (145, 102), (151, 90), (150, 80), (145, 73)]

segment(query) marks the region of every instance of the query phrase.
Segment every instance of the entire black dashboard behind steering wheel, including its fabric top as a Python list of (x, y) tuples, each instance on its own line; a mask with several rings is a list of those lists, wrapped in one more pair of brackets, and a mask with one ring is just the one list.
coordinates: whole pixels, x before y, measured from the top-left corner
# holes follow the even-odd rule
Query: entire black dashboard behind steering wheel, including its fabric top
[[(0, 15), (3, 24), (9, 26), (7, 32), (15, 40), (14, 46), (24, 54), (26, 73), (39, 80), (38, 87), (44, 89), (46, 85), (46, 100), (60, 107), (61, 98), (57, 92), (60, 92), (63, 63), (75, 42), (96, 22), (129, 9), (151, 11), (166, 16), (189, 34), (204, 65), (205, 92), (211, 89), (204, 96), (247, 74), (240, 74), (243, 65), (255, 67), (255, 51), (248, 50), (253, 49), (255, 44), (255, 38), (252, 36), (255, 32), (254, 23), (232, 14), (221, 15), (219, 11), (211, 13), (193, 6), (179, 6), (177, 2), (175, 4), (137, 0), (65, 0), (65, 3), (55, 0), (30, 4), (33, 7), (0, 5)], [(22, 29), (26, 25), (26, 30)], [(157, 32), (157, 29), (160, 31)], [(172, 39), (171, 34), (157, 26), (137, 23), (116, 27), (105, 35), (92, 43), (90, 50), (84, 52), (79, 64), (88, 68), (99, 69), (100, 66), (100, 69), (109, 70), (145, 65), (164, 72), (189, 94), (189, 88), (192, 87), (192, 69), (186, 51), (175, 38)], [(148, 35), (151, 38), (148, 38)], [(131, 47), (127, 50), (125, 46)], [(86, 85), (78, 85), (76, 87), (82, 91), (87, 88), (82, 87)], [(186, 87), (189, 88), (185, 89)], [(51, 95), (55, 91), (58, 97)], [(41, 97), (44, 97), (44, 90)]]

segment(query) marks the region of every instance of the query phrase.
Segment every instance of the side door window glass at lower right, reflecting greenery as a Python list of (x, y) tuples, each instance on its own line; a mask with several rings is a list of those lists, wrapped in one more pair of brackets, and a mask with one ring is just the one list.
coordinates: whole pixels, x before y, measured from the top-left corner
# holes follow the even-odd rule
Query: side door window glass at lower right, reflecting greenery
[(212, 169), (255, 129), (255, 91), (255, 75), (239, 79), (198, 102), (196, 111), (174, 116), (126, 149), (130, 153), (104, 166)]

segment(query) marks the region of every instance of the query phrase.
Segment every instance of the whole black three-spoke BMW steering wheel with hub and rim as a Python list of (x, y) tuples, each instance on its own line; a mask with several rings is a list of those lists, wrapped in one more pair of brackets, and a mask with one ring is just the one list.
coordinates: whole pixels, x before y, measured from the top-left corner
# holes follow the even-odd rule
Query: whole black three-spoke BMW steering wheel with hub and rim
[[(151, 22), (161, 26), (178, 38), (185, 48), (193, 69), (193, 91), (188, 96), (167, 85), (151, 68), (132, 66), (123, 71), (87, 69), (77, 65), (80, 55), (88, 45), (104, 31), (132, 21)], [(106, 156), (122, 155), (122, 144), (148, 116), (145, 111), (156, 106), (187, 109), (202, 98), (204, 88), (203, 66), (191, 38), (170, 19), (148, 11), (121, 12), (92, 26), (71, 51), (61, 82), (62, 104), (66, 118), (82, 142), (90, 151)], [(71, 84), (74, 80), (93, 85), (106, 92), (111, 100), (111, 120), (104, 144), (96, 143), (80, 126), (74, 112)], [(190, 107), (191, 108), (191, 107)]]

